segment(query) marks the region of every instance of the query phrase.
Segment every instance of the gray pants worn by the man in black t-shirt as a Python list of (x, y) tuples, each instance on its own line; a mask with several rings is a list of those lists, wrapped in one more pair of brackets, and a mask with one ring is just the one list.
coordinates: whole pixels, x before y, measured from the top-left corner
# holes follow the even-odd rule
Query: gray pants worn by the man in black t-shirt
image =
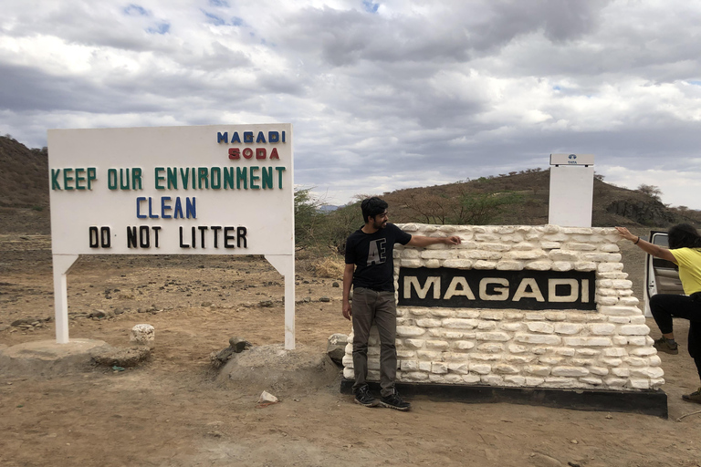
[(397, 307), (394, 292), (377, 292), (354, 287), (351, 305), (353, 314), (353, 391), (366, 384), (368, 378), (368, 338), (374, 322), (380, 332), (380, 394), (389, 396), (394, 391), (397, 376)]

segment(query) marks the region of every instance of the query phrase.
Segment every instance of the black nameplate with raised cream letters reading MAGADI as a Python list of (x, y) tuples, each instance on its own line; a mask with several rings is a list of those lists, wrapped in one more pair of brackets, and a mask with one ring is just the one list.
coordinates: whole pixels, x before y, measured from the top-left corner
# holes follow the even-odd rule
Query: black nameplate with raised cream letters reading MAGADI
[(400, 306), (595, 310), (593, 271), (399, 270)]

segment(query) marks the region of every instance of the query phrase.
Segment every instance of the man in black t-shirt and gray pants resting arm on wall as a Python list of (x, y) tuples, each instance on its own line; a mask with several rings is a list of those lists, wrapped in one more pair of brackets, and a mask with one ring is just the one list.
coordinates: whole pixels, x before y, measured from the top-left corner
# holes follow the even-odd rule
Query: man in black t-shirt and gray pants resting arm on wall
[[(353, 323), (353, 372), (355, 401), (365, 407), (378, 404), (396, 410), (409, 410), (394, 388), (397, 373), (397, 309), (394, 301), (394, 244), (425, 247), (431, 244), (460, 244), (460, 237), (426, 237), (403, 232), (387, 223), (387, 202), (372, 197), (361, 203), (365, 222), (346, 241), (346, 267), (343, 271), (343, 317)], [(353, 306), (349, 296), (353, 286)], [(380, 333), (381, 400), (376, 400), (366, 382), (368, 338), (372, 324)]]

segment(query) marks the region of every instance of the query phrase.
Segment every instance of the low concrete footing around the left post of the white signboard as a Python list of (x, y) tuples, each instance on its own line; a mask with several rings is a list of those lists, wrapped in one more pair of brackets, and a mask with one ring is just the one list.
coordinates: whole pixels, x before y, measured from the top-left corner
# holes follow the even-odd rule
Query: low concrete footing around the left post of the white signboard
[(26, 342), (0, 348), (0, 368), (7, 374), (54, 376), (89, 368), (93, 356), (105, 348), (110, 348), (106, 342), (93, 339), (70, 339), (68, 344), (55, 340)]

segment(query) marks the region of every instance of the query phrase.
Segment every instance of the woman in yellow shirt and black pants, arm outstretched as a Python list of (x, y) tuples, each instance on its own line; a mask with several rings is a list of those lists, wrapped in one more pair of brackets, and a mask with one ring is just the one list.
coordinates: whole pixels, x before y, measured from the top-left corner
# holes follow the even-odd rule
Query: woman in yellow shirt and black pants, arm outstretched
[[(701, 235), (688, 223), (680, 223), (669, 229), (669, 249), (644, 241), (628, 232), (625, 227), (616, 230), (626, 240), (638, 245), (645, 253), (671, 261), (679, 266), (679, 278), (686, 295), (657, 294), (650, 297), (650, 311), (662, 332), (654, 341), (658, 351), (676, 355), (679, 346), (675, 341), (673, 317), (689, 320), (689, 355), (694, 358), (701, 378)], [(682, 396), (684, 400), (701, 403), (701, 388)]]

